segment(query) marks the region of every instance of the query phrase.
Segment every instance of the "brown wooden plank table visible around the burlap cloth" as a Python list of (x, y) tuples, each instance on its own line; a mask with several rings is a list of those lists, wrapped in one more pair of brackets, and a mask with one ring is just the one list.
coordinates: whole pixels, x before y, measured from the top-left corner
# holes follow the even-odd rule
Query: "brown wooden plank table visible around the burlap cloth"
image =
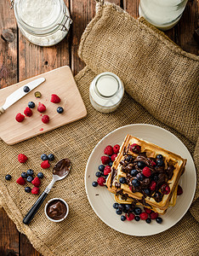
[[(139, 16), (139, 0), (110, 0), (117, 3), (135, 18)], [(0, 88), (69, 65), (76, 75), (84, 64), (77, 55), (79, 41), (89, 20), (94, 17), (94, 0), (65, 0), (70, 9), (73, 25), (66, 38), (54, 47), (42, 48), (29, 43), (19, 31), (10, 9), (9, 0), (0, 2)], [(190, 0), (179, 24), (166, 32), (176, 44), (198, 55), (198, 44), (193, 34), (198, 27), (198, 3)], [(8, 34), (9, 32), (9, 34)], [(0, 255), (40, 255), (26, 236), (16, 230), (6, 212), (0, 209)]]

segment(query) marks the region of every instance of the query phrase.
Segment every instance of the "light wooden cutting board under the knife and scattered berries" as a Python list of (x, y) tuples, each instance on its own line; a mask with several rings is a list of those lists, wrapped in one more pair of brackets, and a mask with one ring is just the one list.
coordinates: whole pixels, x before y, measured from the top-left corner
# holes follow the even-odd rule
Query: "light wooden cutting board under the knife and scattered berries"
[[(20, 86), (31, 82), (34, 79), (44, 77), (43, 84), (15, 102), (2, 115), (0, 115), (0, 137), (9, 145), (20, 143), (30, 137), (35, 137), (44, 132), (51, 131), (62, 125), (66, 125), (87, 115), (87, 110), (82, 102), (82, 97), (77, 89), (77, 84), (72, 76), (70, 67), (60, 67), (43, 73), (34, 78), (27, 79), (18, 84), (11, 85), (0, 90), (0, 106), (3, 106), (5, 99)], [(40, 91), (41, 98), (36, 98), (34, 93)], [(50, 102), (51, 95), (60, 96), (60, 103)], [(26, 117), (23, 122), (15, 120), (17, 113), (24, 113), (28, 102), (35, 102), (36, 107), (32, 108), (32, 116)], [(44, 113), (37, 111), (38, 102), (46, 106)], [(57, 113), (57, 108), (64, 108), (63, 113)], [(48, 114), (49, 123), (43, 124), (42, 115)]]

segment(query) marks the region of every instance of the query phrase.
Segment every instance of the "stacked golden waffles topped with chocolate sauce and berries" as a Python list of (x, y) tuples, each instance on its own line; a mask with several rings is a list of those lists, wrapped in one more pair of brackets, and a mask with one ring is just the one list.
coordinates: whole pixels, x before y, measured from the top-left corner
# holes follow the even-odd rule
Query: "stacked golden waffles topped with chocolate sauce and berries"
[[(134, 144), (134, 145), (133, 145)], [(156, 158), (162, 155), (162, 166)], [(151, 176), (143, 175), (143, 166), (151, 170)], [(116, 160), (111, 167), (111, 173), (106, 179), (107, 189), (115, 194), (115, 200), (120, 203), (139, 204), (151, 208), (154, 212), (164, 214), (168, 207), (173, 207), (177, 198), (179, 177), (185, 171), (186, 160), (178, 154), (173, 154), (155, 144), (127, 135), (120, 148)], [(142, 174), (143, 180), (137, 180), (139, 185), (134, 186), (131, 171)], [(120, 182), (124, 177), (125, 183)], [(156, 179), (155, 179), (156, 177)], [(156, 183), (151, 190), (151, 183)], [(169, 188), (169, 193), (163, 189)], [(147, 190), (148, 189), (148, 190)], [(147, 193), (146, 193), (147, 192)]]

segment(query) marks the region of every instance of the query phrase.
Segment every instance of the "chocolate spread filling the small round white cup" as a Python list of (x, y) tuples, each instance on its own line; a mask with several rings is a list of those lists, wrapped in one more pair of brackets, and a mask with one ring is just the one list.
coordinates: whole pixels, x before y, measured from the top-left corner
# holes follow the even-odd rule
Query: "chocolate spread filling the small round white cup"
[(67, 212), (67, 208), (65, 203), (60, 200), (50, 201), (47, 207), (47, 214), (49, 218), (53, 218), (55, 220), (61, 219), (65, 217)]

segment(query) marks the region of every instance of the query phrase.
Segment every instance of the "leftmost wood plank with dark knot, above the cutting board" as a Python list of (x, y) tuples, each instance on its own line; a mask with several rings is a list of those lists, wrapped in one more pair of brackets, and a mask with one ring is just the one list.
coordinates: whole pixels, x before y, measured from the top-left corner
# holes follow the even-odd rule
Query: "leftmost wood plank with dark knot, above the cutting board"
[(17, 26), (8, 0), (0, 2), (0, 88), (17, 82)]

